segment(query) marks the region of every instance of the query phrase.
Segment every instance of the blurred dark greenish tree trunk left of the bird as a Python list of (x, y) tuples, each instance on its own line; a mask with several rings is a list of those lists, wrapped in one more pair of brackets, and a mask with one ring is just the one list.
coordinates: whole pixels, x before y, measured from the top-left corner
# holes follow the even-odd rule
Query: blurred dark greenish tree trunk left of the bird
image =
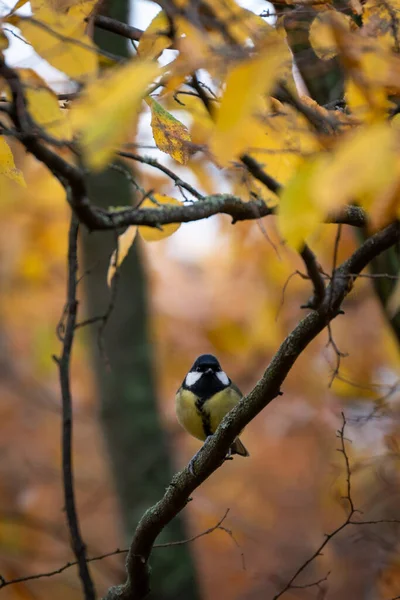
[[(109, 9), (109, 16), (127, 21), (126, 0), (114, 1)], [(96, 42), (114, 54), (127, 55), (125, 40), (119, 36), (100, 32)], [(131, 201), (130, 184), (116, 171), (91, 176), (88, 184), (91, 201), (99, 206), (129, 204)], [(88, 316), (93, 317), (104, 314), (110, 302), (106, 274), (116, 246), (116, 234), (84, 232), (82, 239), (85, 270), (89, 270), (83, 283)], [(117, 297), (102, 336), (103, 355), (99, 349), (98, 326), (90, 328), (101, 422), (126, 542), (139, 517), (163, 495), (172, 474), (168, 443), (157, 408), (146, 284), (136, 241), (121, 268)], [(164, 541), (185, 537), (184, 527), (178, 519), (164, 532)], [(196, 600), (199, 597), (188, 546), (172, 546), (156, 552), (151, 567), (152, 598)]]

